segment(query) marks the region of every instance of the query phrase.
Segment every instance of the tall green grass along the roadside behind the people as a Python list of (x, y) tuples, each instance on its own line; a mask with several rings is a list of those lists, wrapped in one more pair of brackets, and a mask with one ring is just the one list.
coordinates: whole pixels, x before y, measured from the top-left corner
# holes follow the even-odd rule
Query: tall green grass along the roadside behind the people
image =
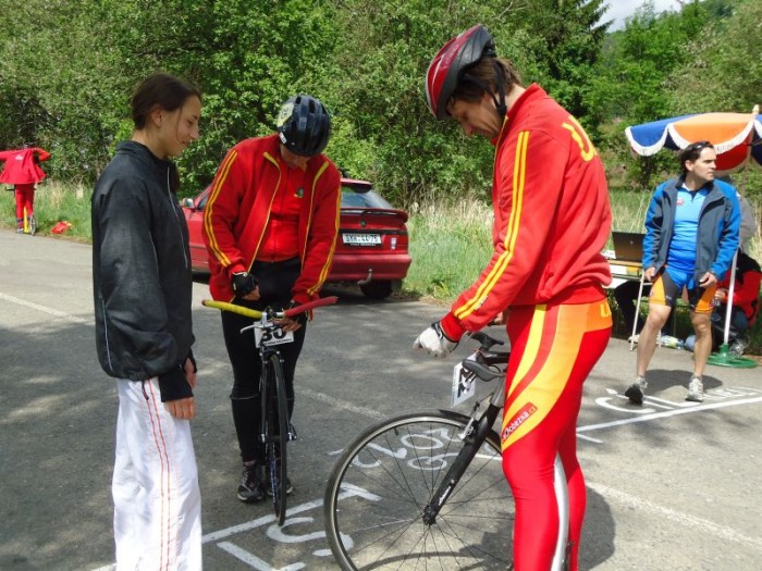
[[(90, 193), (82, 186), (45, 183), (35, 197), (38, 234), (51, 235), (60, 221), (72, 227), (67, 239), (91, 241)], [(642, 232), (649, 193), (612, 191), (613, 227), (623, 232)], [(752, 204), (762, 222), (762, 208)], [(13, 194), (0, 191), (0, 226), (15, 226)], [(403, 284), (403, 295), (438, 303), (451, 303), (487, 265), (492, 255), (492, 209), (478, 200), (464, 199), (450, 204), (428, 204), (410, 209), (408, 231), (413, 265)], [(606, 246), (611, 248), (611, 241)], [(762, 239), (752, 239), (751, 253), (760, 260)], [(626, 335), (613, 295), (615, 333)], [(762, 303), (762, 300), (761, 300)], [(684, 315), (685, 314), (685, 315)], [(678, 312), (677, 334), (685, 337), (691, 325), (687, 312)], [(749, 353), (762, 355), (762, 319), (751, 331)]]

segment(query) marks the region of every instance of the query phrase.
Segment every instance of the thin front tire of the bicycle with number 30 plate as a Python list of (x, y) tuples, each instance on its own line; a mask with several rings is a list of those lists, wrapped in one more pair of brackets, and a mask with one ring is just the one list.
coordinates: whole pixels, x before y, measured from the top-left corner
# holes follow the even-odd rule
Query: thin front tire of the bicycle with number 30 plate
[(288, 442), (288, 402), (286, 400), (285, 377), (279, 353), (268, 358), (268, 380), (270, 382), (267, 399), (268, 433), (265, 445), (265, 460), (269, 486), (272, 489), (272, 507), (278, 524), (283, 525), (286, 514), (286, 477)]

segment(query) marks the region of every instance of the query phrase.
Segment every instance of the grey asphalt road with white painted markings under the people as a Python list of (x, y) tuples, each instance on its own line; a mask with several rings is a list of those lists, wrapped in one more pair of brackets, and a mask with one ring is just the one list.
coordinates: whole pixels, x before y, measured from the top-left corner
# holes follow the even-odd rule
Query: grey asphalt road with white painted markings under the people
[[(335, 569), (323, 486), (335, 452), (402, 410), (447, 407), (452, 365), (414, 353), (442, 308), (335, 290), (297, 369), (290, 448), (296, 492), (284, 527), (235, 498), (239, 460), (219, 315), (194, 286), (199, 362), (193, 434), (209, 570)], [(0, 231), (0, 569), (107, 570), (115, 384), (95, 355), (90, 247)], [(579, 456), (588, 484), (585, 570), (762, 569), (762, 369), (709, 368), (684, 400), (691, 353), (659, 349), (642, 408), (620, 396), (635, 356), (620, 339), (586, 385)]]

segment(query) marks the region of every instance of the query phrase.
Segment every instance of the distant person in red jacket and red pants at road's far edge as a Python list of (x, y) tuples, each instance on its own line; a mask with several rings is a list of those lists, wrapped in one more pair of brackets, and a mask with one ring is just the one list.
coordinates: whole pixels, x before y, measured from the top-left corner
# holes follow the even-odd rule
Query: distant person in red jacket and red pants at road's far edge
[(27, 218), (34, 214), (35, 185), (45, 179), (39, 163), (50, 159), (50, 153), (30, 145), (15, 151), (0, 151), (0, 161), (5, 167), (0, 173), (0, 183), (15, 187), (16, 232), (24, 232), (24, 209)]

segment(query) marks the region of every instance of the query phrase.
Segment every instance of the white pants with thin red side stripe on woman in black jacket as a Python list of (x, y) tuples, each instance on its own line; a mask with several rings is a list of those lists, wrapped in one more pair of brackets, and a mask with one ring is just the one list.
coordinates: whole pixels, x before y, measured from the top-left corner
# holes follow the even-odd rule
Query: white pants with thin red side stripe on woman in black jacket
[(156, 378), (118, 383), (116, 570), (200, 570), (201, 495), (190, 423), (169, 413)]

